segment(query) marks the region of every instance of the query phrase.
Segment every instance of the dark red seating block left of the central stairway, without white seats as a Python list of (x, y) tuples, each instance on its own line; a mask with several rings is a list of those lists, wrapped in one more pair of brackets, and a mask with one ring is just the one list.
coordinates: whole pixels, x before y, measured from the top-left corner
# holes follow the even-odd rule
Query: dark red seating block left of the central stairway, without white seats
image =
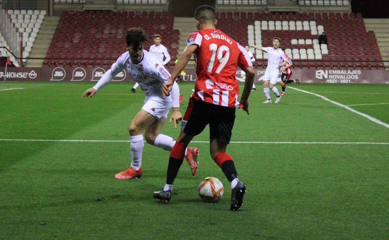
[[(134, 26), (149, 36), (160, 34), (173, 61), (179, 37), (173, 21), (173, 13), (166, 11), (63, 11), (43, 66), (109, 67), (126, 51), (124, 35)], [(151, 44), (152, 38), (144, 48)]]

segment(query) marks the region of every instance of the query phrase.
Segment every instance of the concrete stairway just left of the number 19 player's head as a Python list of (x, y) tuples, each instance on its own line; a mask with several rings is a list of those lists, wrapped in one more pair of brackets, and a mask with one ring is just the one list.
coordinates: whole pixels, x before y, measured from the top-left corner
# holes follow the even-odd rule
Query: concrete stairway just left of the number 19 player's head
[[(186, 39), (188, 35), (197, 31), (195, 18), (174, 17), (173, 29), (178, 29), (180, 31), (178, 48), (177, 48), (177, 53), (178, 53), (177, 58), (178, 58), (179, 54), (181, 54), (186, 47)], [(193, 56), (191, 60), (194, 60)], [(189, 61), (187, 67), (195, 67), (195, 62)]]

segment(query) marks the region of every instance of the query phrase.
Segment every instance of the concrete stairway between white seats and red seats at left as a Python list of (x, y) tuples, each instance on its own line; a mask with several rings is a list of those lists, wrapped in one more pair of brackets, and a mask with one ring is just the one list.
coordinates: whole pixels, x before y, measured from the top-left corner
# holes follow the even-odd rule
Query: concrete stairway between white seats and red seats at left
[(44, 59), (31, 58), (45, 58), (47, 50), (53, 39), (54, 32), (57, 28), (60, 17), (46, 16), (42, 26), (40, 26), (39, 33), (32, 46), (30, 56), (28, 57), (25, 67), (42, 67)]

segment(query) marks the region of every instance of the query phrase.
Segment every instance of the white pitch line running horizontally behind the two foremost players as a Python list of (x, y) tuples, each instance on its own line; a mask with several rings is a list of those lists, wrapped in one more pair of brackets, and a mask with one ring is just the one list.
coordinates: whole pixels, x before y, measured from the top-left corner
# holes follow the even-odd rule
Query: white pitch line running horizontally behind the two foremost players
[[(67, 139), (0, 139), (14, 142), (130, 142), (129, 140), (67, 140)], [(145, 142), (145, 141), (144, 141)], [(192, 143), (209, 143), (209, 141), (191, 141)], [(389, 142), (230, 142), (232, 144), (380, 144)]]

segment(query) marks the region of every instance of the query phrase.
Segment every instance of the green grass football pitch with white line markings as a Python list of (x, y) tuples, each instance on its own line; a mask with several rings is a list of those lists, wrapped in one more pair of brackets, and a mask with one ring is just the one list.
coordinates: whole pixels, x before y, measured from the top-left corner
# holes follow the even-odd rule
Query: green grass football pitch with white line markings
[[(184, 161), (169, 203), (152, 197), (169, 152), (145, 143), (142, 178), (114, 179), (130, 166), (128, 124), (144, 101), (132, 85), (82, 99), (93, 83), (0, 82), (0, 239), (389, 238), (389, 85), (289, 84), (263, 104), (257, 84), (227, 149), (247, 187), (237, 212), (208, 128), (189, 145), (198, 172)], [(184, 114), (194, 84), (179, 86)], [(210, 176), (224, 184), (218, 203), (198, 196)]]

